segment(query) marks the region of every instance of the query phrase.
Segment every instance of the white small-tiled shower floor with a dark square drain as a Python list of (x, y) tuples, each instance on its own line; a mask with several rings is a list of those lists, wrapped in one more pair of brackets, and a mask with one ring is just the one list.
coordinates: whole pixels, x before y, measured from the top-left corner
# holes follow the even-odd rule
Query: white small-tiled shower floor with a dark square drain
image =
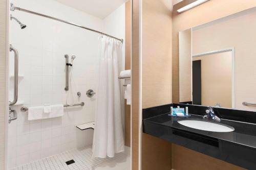
[[(66, 161), (74, 160), (70, 165)], [(118, 153), (114, 158), (92, 158), (92, 147), (74, 149), (54, 156), (40, 159), (11, 170), (130, 170), (130, 148), (126, 147), (123, 153)]]

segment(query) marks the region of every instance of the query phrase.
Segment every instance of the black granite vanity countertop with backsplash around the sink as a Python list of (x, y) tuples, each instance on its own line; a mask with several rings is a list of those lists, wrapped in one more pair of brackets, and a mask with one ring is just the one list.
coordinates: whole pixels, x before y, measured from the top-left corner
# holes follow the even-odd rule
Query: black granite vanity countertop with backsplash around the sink
[[(190, 117), (168, 116), (169, 107), (177, 107), (177, 105), (180, 107), (189, 106), (193, 114)], [(253, 124), (256, 114), (254, 112), (215, 108), (218, 116), (222, 118), (221, 124), (232, 126), (234, 128), (232, 132), (203, 131), (183, 126), (177, 122), (179, 119), (202, 119), (205, 109), (201, 106), (182, 104), (143, 109), (143, 133), (246, 169), (256, 169), (256, 124)], [(229, 117), (230, 120), (223, 119), (223, 117)], [(246, 120), (247, 122), (234, 120)]]

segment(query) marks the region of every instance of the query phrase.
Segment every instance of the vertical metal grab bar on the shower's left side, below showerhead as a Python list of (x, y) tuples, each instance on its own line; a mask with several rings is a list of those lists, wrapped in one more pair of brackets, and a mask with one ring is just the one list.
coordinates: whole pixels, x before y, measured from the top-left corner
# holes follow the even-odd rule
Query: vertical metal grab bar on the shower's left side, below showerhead
[(13, 101), (9, 102), (9, 106), (14, 105), (18, 101), (18, 51), (10, 44), (10, 52), (14, 52), (14, 89)]

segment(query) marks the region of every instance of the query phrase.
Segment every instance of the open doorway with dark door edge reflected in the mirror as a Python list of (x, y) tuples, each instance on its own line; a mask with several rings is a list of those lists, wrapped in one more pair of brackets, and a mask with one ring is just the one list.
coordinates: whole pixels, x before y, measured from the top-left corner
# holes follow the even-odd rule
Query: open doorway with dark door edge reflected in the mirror
[(232, 53), (193, 57), (193, 104), (232, 107)]

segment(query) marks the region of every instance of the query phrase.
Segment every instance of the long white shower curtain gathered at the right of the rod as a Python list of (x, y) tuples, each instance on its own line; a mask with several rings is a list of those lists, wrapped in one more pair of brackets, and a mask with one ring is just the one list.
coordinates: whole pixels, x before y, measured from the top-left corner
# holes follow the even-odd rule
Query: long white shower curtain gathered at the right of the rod
[(121, 117), (121, 94), (118, 60), (122, 57), (121, 42), (99, 37), (99, 86), (95, 112), (93, 157), (114, 157), (124, 151)]

